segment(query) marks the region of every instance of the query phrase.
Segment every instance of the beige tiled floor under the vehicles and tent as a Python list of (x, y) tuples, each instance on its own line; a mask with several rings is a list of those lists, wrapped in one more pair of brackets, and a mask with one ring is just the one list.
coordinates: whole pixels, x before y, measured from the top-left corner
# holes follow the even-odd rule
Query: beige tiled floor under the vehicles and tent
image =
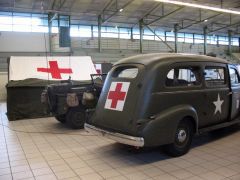
[(160, 148), (136, 150), (54, 118), (11, 121), (0, 104), (0, 180), (240, 180), (240, 127), (196, 137), (178, 158)]

